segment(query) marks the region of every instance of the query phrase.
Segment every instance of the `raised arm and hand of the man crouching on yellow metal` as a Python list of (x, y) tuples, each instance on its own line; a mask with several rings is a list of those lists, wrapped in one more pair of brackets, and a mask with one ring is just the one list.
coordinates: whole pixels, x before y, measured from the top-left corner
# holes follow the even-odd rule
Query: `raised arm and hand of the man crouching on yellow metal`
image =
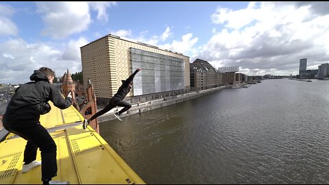
[(67, 97), (64, 99), (62, 94), (58, 90), (55, 90), (54, 86), (50, 86), (49, 98), (53, 102), (54, 106), (60, 109), (65, 109), (72, 105), (71, 93), (69, 93), (69, 95), (67, 95)]

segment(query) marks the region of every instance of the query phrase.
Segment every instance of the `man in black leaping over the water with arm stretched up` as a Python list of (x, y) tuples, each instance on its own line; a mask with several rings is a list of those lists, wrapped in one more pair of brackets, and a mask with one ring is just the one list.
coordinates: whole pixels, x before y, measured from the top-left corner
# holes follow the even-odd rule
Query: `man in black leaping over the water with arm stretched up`
[(123, 101), (123, 99), (130, 92), (130, 89), (132, 89), (132, 79), (134, 79), (136, 73), (138, 73), (138, 71), (141, 71), (141, 70), (142, 69), (138, 68), (126, 80), (121, 80), (122, 85), (120, 86), (118, 92), (114, 95), (114, 97), (112, 97), (110, 99), (110, 102), (108, 103), (108, 106), (106, 106), (105, 108), (103, 108), (102, 110), (100, 110), (99, 112), (94, 114), (90, 119), (84, 119), (84, 123), (82, 124), (82, 127), (84, 128), (84, 130), (86, 130), (86, 128), (89, 125), (90, 121), (93, 121), (98, 116), (101, 116), (101, 115), (105, 114), (106, 112), (112, 110), (112, 108), (115, 108), (116, 106), (123, 107), (123, 109), (121, 109), (119, 112), (116, 112), (114, 114), (114, 116), (116, 116), (117, 119), (122, 121), (120, 115), (123, 112), (125, 112), (125, 111), (129, 110), (130, 108), (132, 108), (132, 105), (130, 105), (130, 103), (127, 103), (126, 101)]

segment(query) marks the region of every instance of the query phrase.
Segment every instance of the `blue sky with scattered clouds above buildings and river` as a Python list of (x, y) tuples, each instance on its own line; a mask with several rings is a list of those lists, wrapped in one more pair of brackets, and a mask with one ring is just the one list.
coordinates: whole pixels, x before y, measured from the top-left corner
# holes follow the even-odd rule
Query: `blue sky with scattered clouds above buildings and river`
[(108, 34), (246, 75), (298, 75), (329, 62), (328, 2), (0, 2), (0, 84), (47, 66), (82, 71), (80, 47)]

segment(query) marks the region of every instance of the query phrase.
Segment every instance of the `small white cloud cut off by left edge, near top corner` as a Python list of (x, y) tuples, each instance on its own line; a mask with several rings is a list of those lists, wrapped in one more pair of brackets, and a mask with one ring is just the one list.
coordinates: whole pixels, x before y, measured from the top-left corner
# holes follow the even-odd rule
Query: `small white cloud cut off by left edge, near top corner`
[(14, 9), (7, 5), (0, 4), (0, 36), (16, 36), (19, 29), (15, 23), (10, 20), (14, 14)]

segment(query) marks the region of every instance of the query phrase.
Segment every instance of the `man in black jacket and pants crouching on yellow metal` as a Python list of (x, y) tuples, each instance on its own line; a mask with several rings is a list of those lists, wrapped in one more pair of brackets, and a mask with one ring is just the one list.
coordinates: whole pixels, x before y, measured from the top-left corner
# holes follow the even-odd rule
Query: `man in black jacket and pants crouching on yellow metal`
[[(40, 124), (40, 115), (51, 110), (48, 101), (66, 109), (72, 105), (72, 93), (66, 98), (52, 85), (55, 72), (48, 67), (35, 70), (29, 77), (32, 82), (22, 84), (10, 99), (3, 115), (5, 130), (27, 140), (24, 150), (22, 173), (27, 173), (41, 165), (43, 184), (69, 184), (51, 180), (57, 176), (57, 146), (49, 132)], [(37, 150), (41, 152), (41, 162), (36, 161)]]

